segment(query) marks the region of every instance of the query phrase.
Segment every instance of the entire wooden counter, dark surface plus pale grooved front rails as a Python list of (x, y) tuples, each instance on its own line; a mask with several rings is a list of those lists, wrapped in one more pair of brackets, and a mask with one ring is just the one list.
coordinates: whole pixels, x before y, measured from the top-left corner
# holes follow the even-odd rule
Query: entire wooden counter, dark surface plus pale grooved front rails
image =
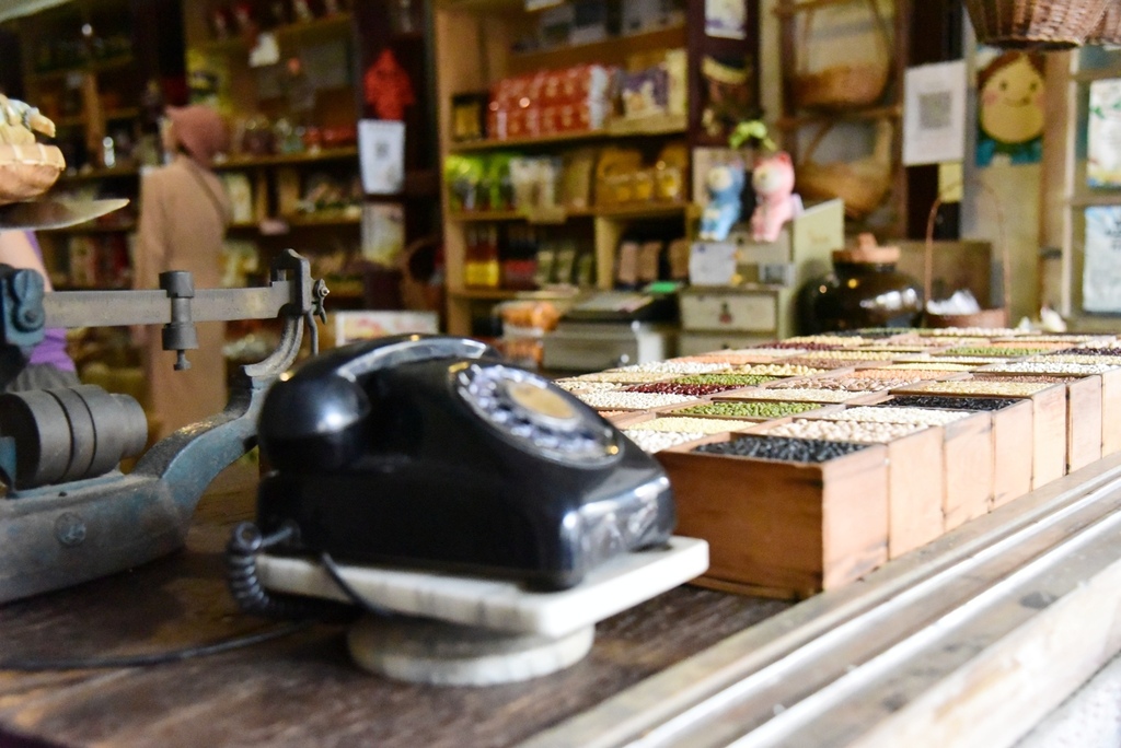
[[(251, 513), (251, 484), (219, 486), (184, 552), (0, 607), (0, 657), (260, 628), (221, 558)], [(1121, 455), (798, 605), (671, 590), (599, 625), (586, 660), (526, 683), (390, 682), (350, 663), (342, 633), (146, 668), (0, 671), (0, 745), (1012, 746), (1121, 651)]]

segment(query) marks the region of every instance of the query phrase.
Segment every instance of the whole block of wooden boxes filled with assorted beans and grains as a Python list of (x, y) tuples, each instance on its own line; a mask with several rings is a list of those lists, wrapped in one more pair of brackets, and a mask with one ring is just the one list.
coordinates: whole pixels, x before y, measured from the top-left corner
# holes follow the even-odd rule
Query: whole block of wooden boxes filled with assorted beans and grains
[[(666, 466), (678, 532), (711, 544), (705, 585), (789, 597), (852, 581), (1121, 451), (1121, 419), (1106, 417), (1121, 412), (1119, 372), (1113, 336), (864, 330), (563, 386)], [(815, 420), (921, 428), (883, 443), (788, 430)], [(828, 443), (841, 451), (817, 451)]]

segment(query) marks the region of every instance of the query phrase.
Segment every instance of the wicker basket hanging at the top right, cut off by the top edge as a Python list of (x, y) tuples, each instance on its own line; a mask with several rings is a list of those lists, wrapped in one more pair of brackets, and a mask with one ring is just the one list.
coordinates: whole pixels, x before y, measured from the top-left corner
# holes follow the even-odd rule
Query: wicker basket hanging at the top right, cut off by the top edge
[(1111, 0), (965, 0), (978, 41), (1068, 49), (1090, 37)]

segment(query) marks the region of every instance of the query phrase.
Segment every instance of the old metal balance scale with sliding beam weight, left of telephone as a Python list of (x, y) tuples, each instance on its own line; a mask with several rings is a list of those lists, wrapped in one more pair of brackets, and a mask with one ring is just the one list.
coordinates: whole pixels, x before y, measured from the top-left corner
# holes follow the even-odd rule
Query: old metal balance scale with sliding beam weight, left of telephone
[[(0, 206), (0, 226), (55, 228), (126, 204), (98, 200)], [(284, 319), (280, 343), (244, 366), (225, 410), (152, 446), (128, 475), (118, 466), (147, 441), (139, 403), (101, 387), (0, 395), (0, 602), (129, 569), (180, 548), (214, 477), (253, 448), (268, 386), (299, 353), (305, 321), (322, 314), (326, 289), (290, 250), (256, 289), (193, 288), (189, 273), (160, 275), (163, 290), (44, 293), (33, 270), (0, 265), (3, 347), (29, 350), (46, 327), (164, 325), (164, 347), (185, 365), (194, 322)], [(313, 334), (315, 331), (312, 324)], [(313, 335), (313, 347), (314, 347)]]

